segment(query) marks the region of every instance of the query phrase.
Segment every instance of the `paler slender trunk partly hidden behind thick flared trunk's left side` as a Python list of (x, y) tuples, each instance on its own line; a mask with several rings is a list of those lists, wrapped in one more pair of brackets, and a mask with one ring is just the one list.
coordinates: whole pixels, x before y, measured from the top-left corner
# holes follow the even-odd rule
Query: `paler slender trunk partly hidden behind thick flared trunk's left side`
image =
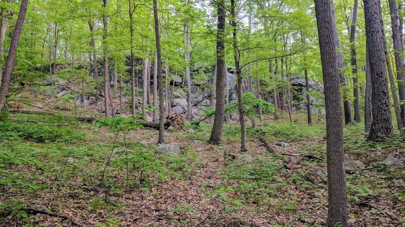
[(364, 131), (366, 134), (369, 134), (371, 129), (371, 121), (372, 121), (371, 96), (372, 96), (371, 71), (370, 71), (369, 51), (366, 45), (366, 96), (364, 98)]

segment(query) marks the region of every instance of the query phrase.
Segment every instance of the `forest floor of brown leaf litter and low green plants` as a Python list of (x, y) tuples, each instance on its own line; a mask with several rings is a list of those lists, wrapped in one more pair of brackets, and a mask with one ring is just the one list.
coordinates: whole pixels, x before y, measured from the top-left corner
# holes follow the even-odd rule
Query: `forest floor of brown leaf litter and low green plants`
[[(302, 113), (294, 119), (248, 127), (246, 152), (237, 149), (238, 124), (225, 124), (220, 146), (207, 143), (209, 124), (185, 124), (166, 133), (180, 154), (164, 156), (155, 152), (157, 130), (124, 136), (58, 115), (4, 113), (0, 226), (322, 226), (325, 119), (314, 116), (312, 126)], [(350, 225), (404, 226), (405, 168), (381, 163), (405, 162), (404, 133), (371, 143), (362, 124), (344, 131), (346, 160), (366, 166), (347, 173)]]

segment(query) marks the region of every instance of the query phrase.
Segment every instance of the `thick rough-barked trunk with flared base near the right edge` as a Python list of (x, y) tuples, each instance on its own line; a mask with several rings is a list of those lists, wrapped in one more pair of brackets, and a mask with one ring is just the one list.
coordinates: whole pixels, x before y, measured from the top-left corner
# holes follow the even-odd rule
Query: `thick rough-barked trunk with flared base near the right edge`
[(363, 3), (373, 91), (373, 121), (368, 140), (375, 141), (381, 135), (387, 136), (392, 132), (391, 105), (384, 59), (384, 35), (380, 1), (363, 0)]

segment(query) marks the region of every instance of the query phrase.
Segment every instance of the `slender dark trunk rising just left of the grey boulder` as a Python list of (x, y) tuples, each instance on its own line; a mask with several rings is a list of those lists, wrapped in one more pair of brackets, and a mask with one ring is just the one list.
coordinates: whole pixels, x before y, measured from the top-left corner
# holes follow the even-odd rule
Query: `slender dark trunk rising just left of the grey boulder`
[(157, 77), (159, 86), (159, 143), (165, 143), (165, 126), (164, 126), (164, 99), (163, 99), (163, 78), (161, 69), (161, 49), (160, 49), (160, 33), (159, 33), (159, 15), (157, 14), (157, 3), (153, 0), (153, 15), (155, 19), (155, 37), (156, 37), (156, 53), (157, 53)]

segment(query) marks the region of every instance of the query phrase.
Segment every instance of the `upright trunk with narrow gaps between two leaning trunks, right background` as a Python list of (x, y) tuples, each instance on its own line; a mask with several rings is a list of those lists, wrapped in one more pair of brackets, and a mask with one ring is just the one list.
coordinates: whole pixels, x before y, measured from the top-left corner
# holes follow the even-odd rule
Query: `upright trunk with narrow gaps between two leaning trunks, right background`
[(360, 100), (358, 96), (358, 75), (357, 75), (357, 60), (356, 60), (356, 21), (358, 0), (354, 0), (353, 12), (350, 27), (350, 49), (351, 49), (351, 67), (353, 74), (353, 96), (354, 96), (354, 122), (361, 122), (360, 118)]

